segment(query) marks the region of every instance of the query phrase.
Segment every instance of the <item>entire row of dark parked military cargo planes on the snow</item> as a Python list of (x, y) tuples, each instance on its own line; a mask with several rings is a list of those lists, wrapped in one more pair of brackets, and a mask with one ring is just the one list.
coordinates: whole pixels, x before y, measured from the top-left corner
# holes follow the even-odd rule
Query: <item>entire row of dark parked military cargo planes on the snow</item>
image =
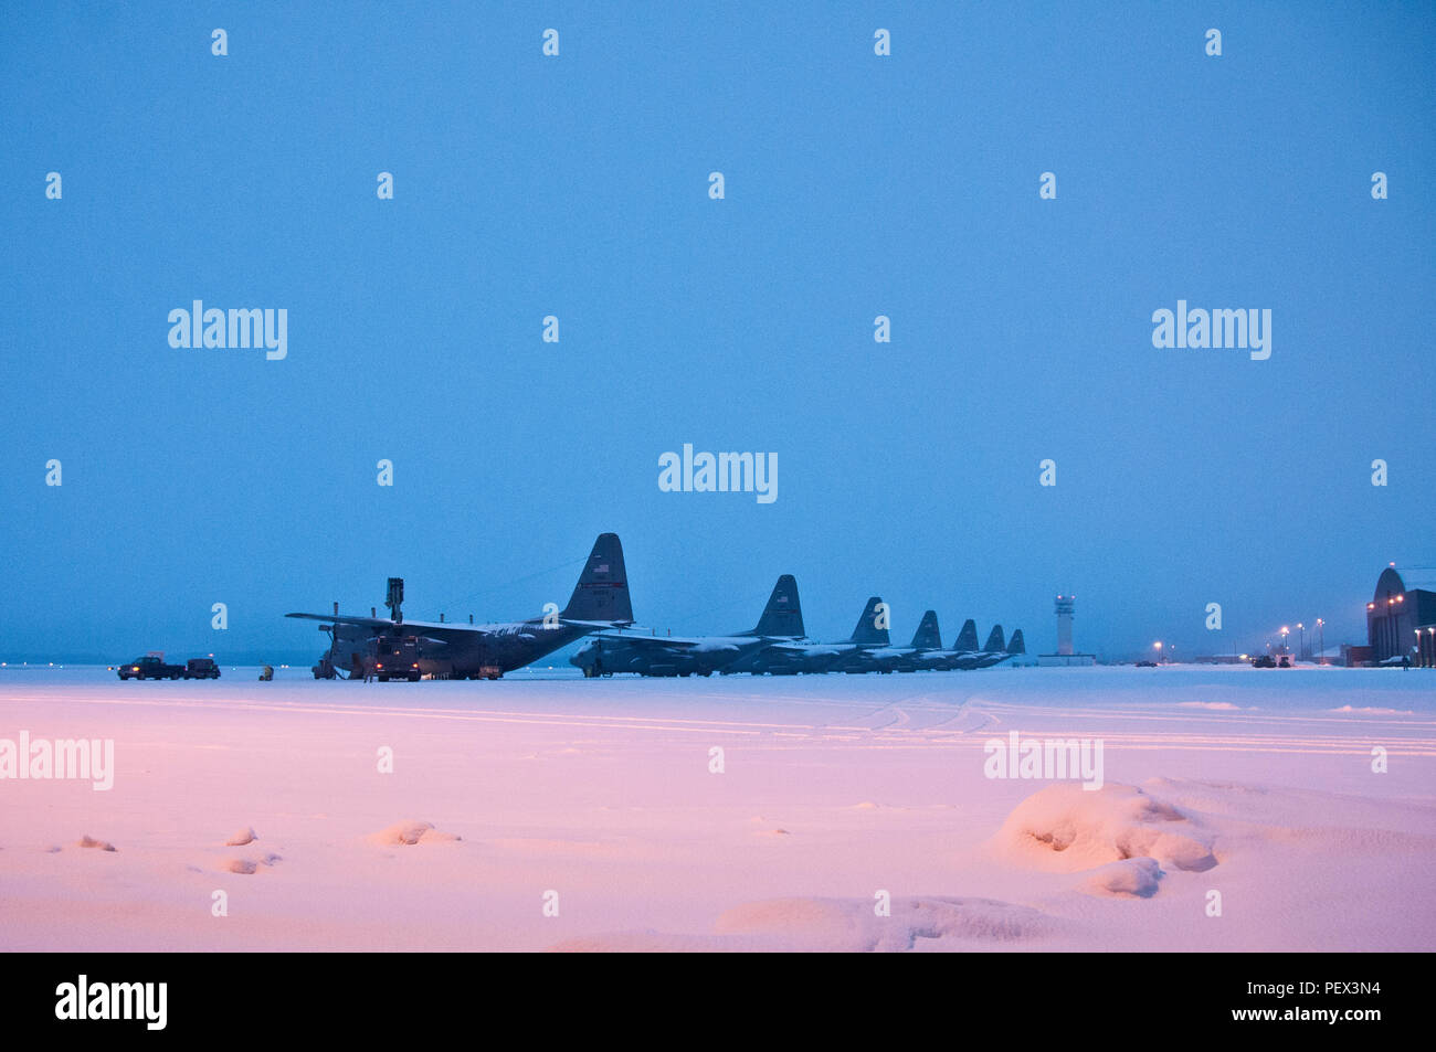
[[(395, 587), (398, 586), (398, 587)], [(573, 596), (563, 610), (524, 621), (462, 624), (405, 621), (402, 581), (391, 578), (386, 606), (391, 617), (292, 613), (323, 621), (330, 647), (314, 676), (349, 679), (373, 675), (381, 680), (497, 679), (521, 669), (584, 636), (590, 639), (570, 659), (584, 676), (616, 672), (645, 676), (709, 676), (714, 672), (796, 675), (819, 672), (916, 672), (920, 669), (984, 669), (1025, 653), (1022, 633), (1007, 643), (1002, 626), (978, 649), (976, 626), (962, 626), (951, 649), (942, 646), (938, 614), (923, 614), (912, 644), (893, 647), (887, 609), (877, 596), (867, 600), (853, 634), (840, 643), (807, 637), (797, 581), (778, 578), (758, 623), (731, 636), (656, 636), (633, 629), (623, 545), (617, 534), (600, 534), (593, 544)]]

